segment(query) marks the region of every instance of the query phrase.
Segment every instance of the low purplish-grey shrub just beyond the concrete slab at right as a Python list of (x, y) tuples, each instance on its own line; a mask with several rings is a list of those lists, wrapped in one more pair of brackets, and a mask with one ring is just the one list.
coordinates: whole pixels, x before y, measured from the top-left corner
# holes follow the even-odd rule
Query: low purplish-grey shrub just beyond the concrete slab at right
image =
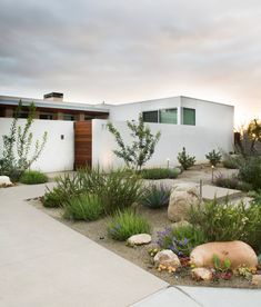
[(237, 175), (231, 175), (230, 177), (224, 177), (222, 174), (215, 177), (214, 184), (218, 187), (235, 189), (242, 191), (250, 191), (252, 186), (248, 182), (239, 180)]

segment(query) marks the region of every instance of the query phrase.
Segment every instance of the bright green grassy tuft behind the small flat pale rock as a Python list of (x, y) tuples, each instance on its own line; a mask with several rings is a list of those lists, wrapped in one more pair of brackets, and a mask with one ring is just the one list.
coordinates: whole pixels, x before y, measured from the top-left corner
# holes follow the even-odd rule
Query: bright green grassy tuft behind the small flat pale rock
[(108, 234), (116, 240), (127, 240), (132, 235), (149, 234), (150, 225), (130, 208), (118, 211), (108, 225)]

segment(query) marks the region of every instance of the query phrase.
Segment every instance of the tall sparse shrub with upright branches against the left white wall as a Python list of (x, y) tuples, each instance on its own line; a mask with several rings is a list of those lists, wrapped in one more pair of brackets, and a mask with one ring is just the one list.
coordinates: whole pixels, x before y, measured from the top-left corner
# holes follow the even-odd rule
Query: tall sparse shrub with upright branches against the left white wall
[(36, 141), (33, 154), (30, 155), (33, 138), (30, 128), (33, 123), (36, 107), (33, 103), (30, 105), (29, 116), (23, 128), (18, 126), (21, 110), (22, 102), (20, 100), (14, 112), (10, 132), (9, 135), (3, 136), (3, 151), (0, 160), (0, 174), (9, 176), (13, 181), (17, 181), (20, 176), (40, 157), (47, 142), (47, 132), (44, 132), (41, 142), (39, 142), (39, 140)]

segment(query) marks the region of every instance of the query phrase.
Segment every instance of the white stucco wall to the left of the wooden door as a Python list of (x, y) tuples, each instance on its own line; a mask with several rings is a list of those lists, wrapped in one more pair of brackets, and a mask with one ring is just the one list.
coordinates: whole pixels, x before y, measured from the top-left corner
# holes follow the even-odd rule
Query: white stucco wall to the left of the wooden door
[[(2, 136), (10, 131), (11, 118), (0, 119), (0, 157), (2, 152)], [(23, 126), (24, 119), (19, 119), (19, 125)], [(33, 143), (41, 140), (44, 131), (48, 132), (46, 147), (39, 159), (31, 169), (49, 171), (72, 170), (74, 162), (74, 131), (73, 121), (62, 120), (38, 120), (36, 119), (30, 131), (33, 133)], [(61, 139), (61, 135), (64, 139)]]

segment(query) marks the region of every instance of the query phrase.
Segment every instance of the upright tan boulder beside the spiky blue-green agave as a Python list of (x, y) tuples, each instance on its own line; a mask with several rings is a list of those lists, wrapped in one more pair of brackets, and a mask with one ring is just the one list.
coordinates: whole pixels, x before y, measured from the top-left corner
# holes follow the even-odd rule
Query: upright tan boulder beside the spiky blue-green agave
[(199, 185), (180, 182), (173, 186), (168, 207), (168, 218), (172, 221), (188, 219), (190, 206), (200, 205)]

